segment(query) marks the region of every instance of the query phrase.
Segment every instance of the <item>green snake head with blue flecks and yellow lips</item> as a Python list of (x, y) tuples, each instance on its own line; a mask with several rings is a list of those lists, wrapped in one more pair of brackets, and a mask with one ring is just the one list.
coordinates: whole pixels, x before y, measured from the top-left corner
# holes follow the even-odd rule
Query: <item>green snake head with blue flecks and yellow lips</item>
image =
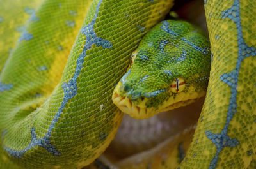
[(188, 22), (161, 22), (143, 37), (131, 60), (113, 92), (113, 103), (131, 117), (152, 117), (205, 95), (209, 40)]

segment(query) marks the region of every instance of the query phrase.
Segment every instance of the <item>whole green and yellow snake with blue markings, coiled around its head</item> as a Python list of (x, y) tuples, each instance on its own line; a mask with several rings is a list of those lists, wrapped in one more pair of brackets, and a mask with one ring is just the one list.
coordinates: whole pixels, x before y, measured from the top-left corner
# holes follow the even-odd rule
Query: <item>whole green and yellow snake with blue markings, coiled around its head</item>
[[(207, 87), (193, 140), (186, 157), (175, 167), (255, 168), (255, 3), (204, 0), (211, 50), (209, 44), (197, 41), (206, 40), (193, 26), (161, 22), (173, 3), (0, 1), (0, 167), (83, 168), (104, 152), (122, 121), (123, 113), (112, 96), (115, 102), (124, 91), (131, 91), (122, 96), (123, 103), (130, 105), (121, 110), (140, 119), (166, 106), (186, 105), (203, 96)], [(136, 50), (159, 22), (161, 33), (156, 35), (153, 30), (151, 34), (179, 38), (174, 44), (156, 37), (158, 52), (179, 45), (182, 50), (172, 48), (170, 52), (180, 57), (166, 60), (165, 55), (161, 60), (150, 53), (156, 50), (144, 50), (143, 45)], [(179, 29), (181, 25), (185, 28)], [(206, 53), (211, 67), (200, 59), (182, 63), (195, 50), (202, 57)], [(131, 55), (134, 62), (125, 74)], [(150, 61), (149, 55), (156, 59), (159, 71), (157, 66), (143, 66)], [(163, 65), (165, 61), (179, 61), (181, 67), (172, 70)], [(140, 65), (145, 69), (136, 75)], [(188, 75), (184, 70), (193, 66), (195, 70), (187, 69), (192, 73)], [(211, 69), (209, 82), (205, 82), (207, 69)], [(156, 73), (150, 74), (152, 71)], [(161, 80), (154, 81), (149, 75)], [(167, 82), (171, 83), (168, 87)], [(127, 84), (124, 89), (122, 84)], [(143, 88), (147, 90), (140, 91)]]

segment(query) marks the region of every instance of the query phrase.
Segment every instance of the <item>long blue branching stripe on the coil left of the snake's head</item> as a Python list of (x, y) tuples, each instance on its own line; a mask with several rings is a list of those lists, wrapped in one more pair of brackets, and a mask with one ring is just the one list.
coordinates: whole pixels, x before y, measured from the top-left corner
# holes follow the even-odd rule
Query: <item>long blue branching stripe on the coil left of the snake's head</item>
[(43, 138), (38, 139), (36, 137), (35, 128), (31, 128), (31, 142), (29, 143), (28, 147), (21, 151), (15, 151), (8, 147), (4, 147), (4, 150), (10, 154), (10, 156), (13, 156), (14, 158), (22, 158), (24, 153), (28, 151), (29, 149), (32, 149), (35, 146), (40, 146), (46, 149), (48, 152), (50, 152), (53, 156), (61, 156), (61, 152), (59, 152), (54, 145), (51, 145), (50, 137), (52, 135), (52, 129), (54, 128), (56, 122), (58, 119), (60, 119), (61, 112), (63, 108), (65, 107), (66, 103), (76, 96), (77, 94), (77, 77), (79, 76), (81, 72), (81, 68), (83, 68), (83, 62), (84, 57), (86, 57), (86, 50), (89, 50), (92, 48), (93, 44), (96, 44), (97, 47), (102, 46), (103, 48), (111, 48), (112, 44), (108, 40), (103, 40), (102, 38), (99, 38), (96, 36), (93, 26), (95, 24), (95, 20), (97, 18), (97, 15), (99, 13), (100, 4), (102, 3), (102, 0), (99, 1), (96, 8), (96, 13), (94, 18), (92, 19), (92, 22), (90, 22), (87, 26), (83, 27), (81, 29), (81, 33), (83, 33), (86, 36), (86, 42), (83, 48), (83, 52), (81, 55), (79, 55), (77, 62), (76, 62), (76, 71), (74, 73), (74, 76), (66, 83), (63, 82), (62, 88), (64, 91), (64, 97), (63, 101), (61, 103), (60, 108), (58, 109), (58, 112), (56, 112), (56, 115), (54, 115), (51, 125), (49, 126), (49, 129), (45, 136)]

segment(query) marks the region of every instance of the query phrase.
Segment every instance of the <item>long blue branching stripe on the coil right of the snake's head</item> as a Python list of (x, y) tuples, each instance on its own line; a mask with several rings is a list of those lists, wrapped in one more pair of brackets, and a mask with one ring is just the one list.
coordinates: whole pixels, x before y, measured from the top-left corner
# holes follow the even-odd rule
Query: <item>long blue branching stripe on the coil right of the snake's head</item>
[(220, 81), (225, 82), (225, 84), (231, 87), (231, 97), (230, 103), (227, 112), (227, 119), (224, 128), (221, 133), (212, 133), (211, 131), (205, 131), (205, 135), (209, 138), (214, 145), (216, 145), (217, 151), (216, 155), (211, 161), (209, 169), (214, 169), (218, 163), (218, 156), (224, 147), (236, 147), (239, 145), (239, 140), (237, 138), (230, 138), (227, 134), (228, 126), (230, 121), (234, 117), (234, 114), (237, 112), (237, 84), (238, 84), (238, 75), (241, 66), (241, 62), (246, 57), (255, 56), (256, 49), (254, 47), (249, 47), (243, 38), (242, 26), (241, 26), (241, 17), (240, 17), (240, 6), (239, 0), (234, 0), (231, 8), (223, 11), (221, 13), (222, 18), (230, 18), (230, 20), (236, 23), (237, 28), (237, 42), (238, 42), (238, 57), (236, 68), (230, 73), (224, 73), (220, 76)]

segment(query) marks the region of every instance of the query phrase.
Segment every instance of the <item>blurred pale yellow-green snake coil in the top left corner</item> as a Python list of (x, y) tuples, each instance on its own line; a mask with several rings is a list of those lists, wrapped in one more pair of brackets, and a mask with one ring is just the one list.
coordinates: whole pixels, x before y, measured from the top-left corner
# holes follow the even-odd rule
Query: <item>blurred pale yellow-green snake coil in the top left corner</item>
[(41, 2), (42, 0), (0, 1), (0, 72), (26, 24), (37, 20), (34, 13)]

